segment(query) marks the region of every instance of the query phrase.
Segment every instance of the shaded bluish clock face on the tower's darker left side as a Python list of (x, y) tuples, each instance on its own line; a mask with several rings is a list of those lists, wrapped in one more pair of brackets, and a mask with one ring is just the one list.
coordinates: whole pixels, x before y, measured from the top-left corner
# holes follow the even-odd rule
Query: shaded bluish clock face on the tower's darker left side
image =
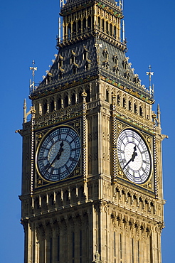
[(47, 134), (38, 146), (36, 169), (47, 181), (60, 181), (70, 175), (80, 159), (80, 137), (63, 126)]

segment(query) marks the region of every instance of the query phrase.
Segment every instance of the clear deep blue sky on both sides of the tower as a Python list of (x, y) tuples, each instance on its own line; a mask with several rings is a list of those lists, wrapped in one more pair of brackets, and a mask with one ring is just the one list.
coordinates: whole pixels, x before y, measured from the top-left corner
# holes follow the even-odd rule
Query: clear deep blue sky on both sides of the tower
[[(1, 1), (1, 216), (0, 262), (23, 263), (23, 227), (20, 225), (21, 141), (16, 129), (22, 128), (23, 100), (28, 109), (29, 67), (36, 61), (36, 82), (42, 80), (52, 64), (55, 36), (58, 33), (58, 0)], [(152, 65), (155, 104), (160, 104), (164, 139), (164, 206), (162, 261), (174, 262), (174, 75), (175, 75), (175, 2), (172, 0), (124, 0), (124, 18), (129, 62), (142, 84), (149, 86), (146, 75)]]

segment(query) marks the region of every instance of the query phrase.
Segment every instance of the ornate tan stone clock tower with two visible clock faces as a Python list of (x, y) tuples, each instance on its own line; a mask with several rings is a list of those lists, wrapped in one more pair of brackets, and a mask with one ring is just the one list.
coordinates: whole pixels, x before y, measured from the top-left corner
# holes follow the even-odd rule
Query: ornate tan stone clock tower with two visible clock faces
[(125, 55), (122, 4), (68, 0), (60, 16), (58, 55), (18, 131), (24, 262), (160, 263), (164, 135)]

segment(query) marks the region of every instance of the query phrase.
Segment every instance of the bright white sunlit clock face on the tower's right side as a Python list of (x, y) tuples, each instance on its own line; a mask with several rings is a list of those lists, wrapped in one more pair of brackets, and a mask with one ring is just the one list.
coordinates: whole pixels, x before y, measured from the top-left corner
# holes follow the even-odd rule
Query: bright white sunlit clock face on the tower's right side
[(124, 129), (117, 139), (120, 166), (129, 181), (142, 184), (152, 171), (152, 158), (144, 139), (133, 129)]

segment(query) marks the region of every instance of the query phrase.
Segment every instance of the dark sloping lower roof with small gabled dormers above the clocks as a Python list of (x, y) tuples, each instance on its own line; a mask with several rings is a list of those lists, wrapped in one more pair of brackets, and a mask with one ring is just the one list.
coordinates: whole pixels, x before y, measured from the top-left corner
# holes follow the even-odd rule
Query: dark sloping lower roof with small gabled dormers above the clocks
[[(87, 54), (85, 58), (83, 53)], [(88, 38), (78, 45), (73, 43), (60, 48), (51, 70), (31, 97), (35, 97), (38, 92), (44, 95), (49, 90), (65, 90), (101, 76), (102, 80), (112, 85), (121, 85), (128, 92), (137, 92), (152, 101), (152, 95), (141, 85), (128, 60), (122, 50), (99, 38)]]

